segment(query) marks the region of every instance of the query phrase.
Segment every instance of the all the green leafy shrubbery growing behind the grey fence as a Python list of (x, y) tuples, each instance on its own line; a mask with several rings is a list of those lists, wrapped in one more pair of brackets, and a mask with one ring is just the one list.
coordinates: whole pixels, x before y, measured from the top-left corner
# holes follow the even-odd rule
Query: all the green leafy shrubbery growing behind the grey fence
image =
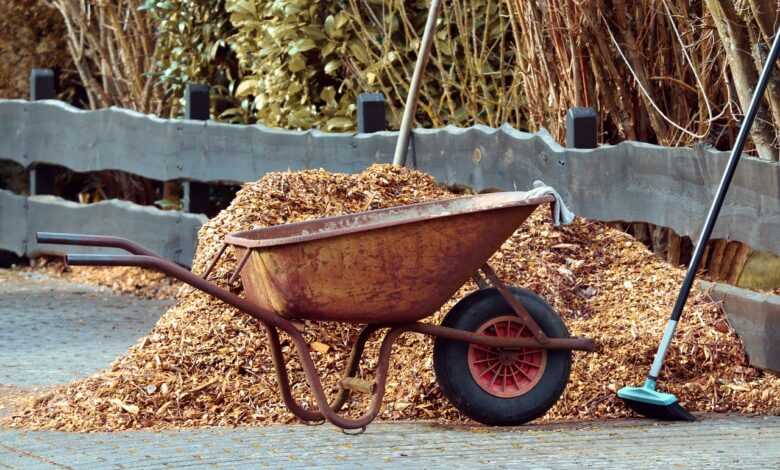
[[(400, 122), (428, 4), (424, 1), (147, 0), (156, 70), (172, 99), (187, 82), (214, 87), (231, 122), (326, 131), (355, 128), (355, 100), (388, 99)], [(521, 73), (501, 1), (448, 2), (420, 93), (421, 125), (522, 126)]]

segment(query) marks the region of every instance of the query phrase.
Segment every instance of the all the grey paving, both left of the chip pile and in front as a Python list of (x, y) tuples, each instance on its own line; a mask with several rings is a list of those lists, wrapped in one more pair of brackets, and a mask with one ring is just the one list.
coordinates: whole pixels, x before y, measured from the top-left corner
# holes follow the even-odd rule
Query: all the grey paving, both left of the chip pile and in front
[[(4, 393), (107, 366), (165, 306), (0, 270), (0, 407)], [(780, 418), (512, 429), (376, 423), (359, 436), (329, 425), (96, 434), (0, 429), (0, 469), (181, 467), (780, 468)]]

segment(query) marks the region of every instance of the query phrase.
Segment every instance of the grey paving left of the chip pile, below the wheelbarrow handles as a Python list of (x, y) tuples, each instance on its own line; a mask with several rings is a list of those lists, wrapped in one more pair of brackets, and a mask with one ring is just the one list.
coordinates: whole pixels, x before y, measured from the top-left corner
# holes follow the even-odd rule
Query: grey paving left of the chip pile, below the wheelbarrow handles
[(0, 386), (56, 385), (97, 372), (145, 335), (170, 303), (0, 270)]

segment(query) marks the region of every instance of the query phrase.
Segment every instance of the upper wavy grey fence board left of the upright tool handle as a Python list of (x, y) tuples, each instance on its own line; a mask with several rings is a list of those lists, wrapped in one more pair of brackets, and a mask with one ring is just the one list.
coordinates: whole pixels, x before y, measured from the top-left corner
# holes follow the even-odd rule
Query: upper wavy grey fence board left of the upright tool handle
[(122, 170), (162, 181), (246, 182), (269, 171), (320, 167), (360, 171), (392, 158), (394, 137), (380, 134), (363, 138), (160, 119), (120, 108), (83, 111), (60, 101), (0, 100), (0, 158), (79, 172)]

